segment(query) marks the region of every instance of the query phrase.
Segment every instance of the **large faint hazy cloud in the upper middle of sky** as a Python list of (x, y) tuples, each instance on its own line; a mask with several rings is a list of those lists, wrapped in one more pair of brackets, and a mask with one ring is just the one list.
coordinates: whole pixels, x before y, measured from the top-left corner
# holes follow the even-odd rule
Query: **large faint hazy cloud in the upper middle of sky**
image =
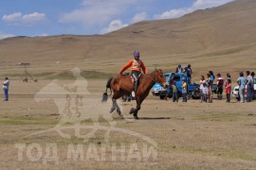
[(82, 8), (64, 13), (60, 23), (76, 23), (82, 26), (102, 26), (123, 13), (137, 0), (83, 0)]

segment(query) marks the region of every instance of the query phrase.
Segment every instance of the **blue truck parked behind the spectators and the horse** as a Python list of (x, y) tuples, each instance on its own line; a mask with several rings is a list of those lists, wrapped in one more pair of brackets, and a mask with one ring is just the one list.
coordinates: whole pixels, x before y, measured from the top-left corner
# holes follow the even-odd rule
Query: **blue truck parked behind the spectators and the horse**
[[(176, 85), (177, 85), (178, 96), (181, 96), (181, 94), (182, 94), (182, 87), (181, 87), (182, 79), (185, 79), (188, 84), (188, 99), (190, 99), (191, 97), (192, 98), (200, 98), (199, 85), (198, 84), (189, 84), (188, 77), (185, 73), (171, 72), (171, 73), (164, 74), (164, 76), (166, 77), (166, 82), (168, 85), (170, 85), (171, 78), (173, 76), (173, 80), (175, 80)], [(169, 93), (169, 91), (171, 91), (171, 93)], [(167, 93), (169, 93), (169, 95), (168, 95), (169, 98), (171, 98), (173, 96), (172, 88), (163, 89), (163, 87), (158, 83), (155, 83), (155, 85), (153, 86), (152, 93), (155, 96), (159, 96), (160, 99), (164, 99), (164, 97)]]

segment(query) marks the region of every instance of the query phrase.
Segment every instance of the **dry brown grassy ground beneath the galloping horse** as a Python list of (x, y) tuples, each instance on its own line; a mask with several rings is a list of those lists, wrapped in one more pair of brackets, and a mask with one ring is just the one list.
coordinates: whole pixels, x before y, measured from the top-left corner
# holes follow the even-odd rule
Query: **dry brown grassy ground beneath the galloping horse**
[[(23, 83), (12, 80), (9, 102), (0, 101), (0, 167), (1, 169), (255, 169), (256, 167), (256, 114), (255, 101), (240, 104), (232, 98), (231, 103), (214, 100), (212, 104), (189, 100), (188, 103), (163, 101), (149, 95), (142, 104), (138, 116), (142, 119), (119, 119), (114, 113), (115, 127), (137, 132), (155, 141), (157, 161), (137, 159), (125, 161), (119, 158), (112, 161), (113, 154), (106, 152), (106, 161), (90, 159), (70, 161), (66, 159), (68, 144), (82, 144), (84, 155), (90, 144), (96, 145), (99, 154), (101, 145), (106, 144), (101, 130), (96, 136), (84, 143), (72, 136), (64, 139), (56, 131), (37, 133), (55, 127), (62, 118), (53, 101), (36, 102), (34, 94), (40, 91), (50, 80), (38, 83)], [(72, 80), (63, 80), (70, 84)], [(97, 101), (101, 101), (105, 79), (88, 79), (88, 91)], [(65, 101), (65, 100), (64, 100)], [(125, 117), (135, 102), (119, 101)], [(93, 111), (93, 110), (86, 110)], [(85, 113), (86, 111), (82, 112)], [(92, 112), (93, 113), (93, 112)], [(107, 113), (106, 113), (107, 114)], [(101, 126), (108, 122), (101, 118)], [(85, 120), (82, 125), (93, 125)], [(68, 127), (70, 125), (65, 125)], [(74, 131), (66, 131), (74, 133)], [(87, 131), (83, 131), (87, 132)], [(26, 137), (27, 135), (31, 135)], [(25, 150), (23, 161), (18, 160), (15, 144), (40, 144), (43, 156), (46, 144), (57, 144), (59, 164), (43, 158), (31, 161)], [(142, 154), (142, 145), (148, 144), (142, 138), (121, 132), (110, 133), (110, 144), (125, 144), (126, 154), (132, 144), (137, 144), (133, 153)], [(36, 153), (36, 152), (33, 152)], [(128, 153), (129, 154), (129, 153)], [(85, 157), (85, 156), (84, 156)], [(119, 156), (117, 156), (119, 157)]]

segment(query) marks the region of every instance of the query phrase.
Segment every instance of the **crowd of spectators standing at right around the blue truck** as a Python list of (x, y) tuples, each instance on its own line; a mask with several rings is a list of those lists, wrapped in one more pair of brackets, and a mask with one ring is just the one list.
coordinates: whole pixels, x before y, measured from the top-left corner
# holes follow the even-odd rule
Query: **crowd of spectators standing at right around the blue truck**
[[(185, 73), (188, 77), (188, 84), (192, 83), (192, 67), (191, 64), (188, 64), (188, 66), (182, 68), (181, 64), (178, 64), (178, 66), (175, 69), (175, 73)], [(254, 99), (254, 72), (247, 71), (246, 76), (244, 76), (243, 72), (239, 73), (239, 77), (236, 80), (236, 83), (239, 86), (239, 100), (241, 103), (251, 102)], [(231, 76), (230, 74), (227, 74), (226, 79), (224, 79), (220, 73), (214, 76), (212, 71), (209, 71), (207, 76), (201, 76), (199, 81), (200, 86), (200, 98), (201, 102), (207, 102), (212, 103), (212, 96), (213, 96), (213, 83), (216, 82), (216, 93), (217, 93), (217, 99), (222, 100), (223, 99), (223, 93), (226, 93), (227, 102), (230, 102), (231, 97)], [(183, 89), (185, 91), (185, 88), (182, 85), (182, 95), (183, 95)], [(188, 93), (188, 92), (185, 92)], [(247, 98), (246, 98), (247, 93)], [(177, 100), (175, 100), (177, 101)], [(184, 99), (183, 99), (184, 101)]]

